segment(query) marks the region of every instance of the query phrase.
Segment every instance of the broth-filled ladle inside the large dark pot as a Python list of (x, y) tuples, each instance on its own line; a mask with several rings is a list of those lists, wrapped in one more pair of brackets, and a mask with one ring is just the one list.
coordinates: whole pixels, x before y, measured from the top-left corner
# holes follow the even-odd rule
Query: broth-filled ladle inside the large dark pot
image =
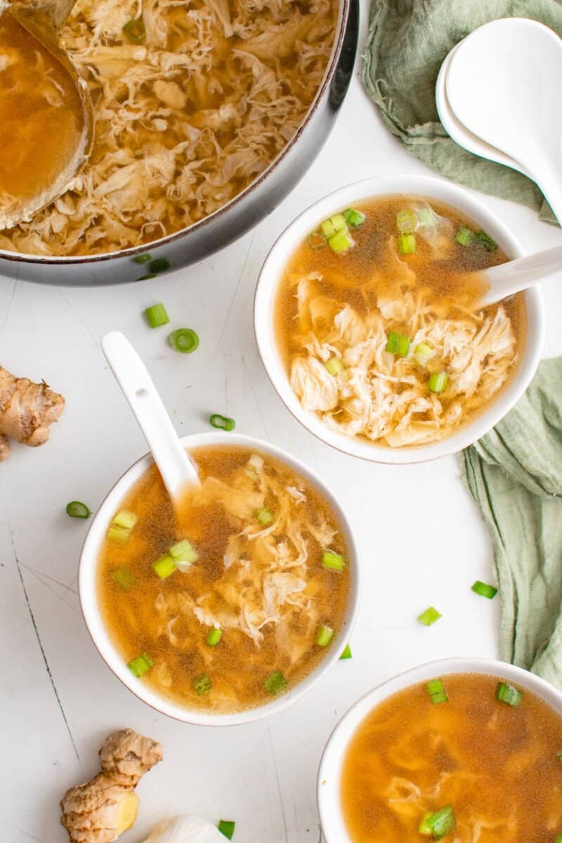
[(88, 85), (59, 43), (75, 3), (0, 0), (0, 229), (61, 196), (92, 149)]

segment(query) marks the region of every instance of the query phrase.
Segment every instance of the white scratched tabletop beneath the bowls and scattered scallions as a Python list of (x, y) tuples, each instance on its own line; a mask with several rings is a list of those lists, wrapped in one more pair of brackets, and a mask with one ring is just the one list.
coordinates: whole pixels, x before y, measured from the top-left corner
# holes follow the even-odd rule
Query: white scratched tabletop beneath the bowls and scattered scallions
[[(363, 10), (361, 43), (366, 30)], [(337, 164), (336, 164), (337, 162)], [(301, 184), (276, 212), (227, 250), (166, 277), (102, 289), (58, 289), (0, 278), (0, 361), (44, 378), (67, 409), (43, 448), (14, 446), (0, 466), (0, 840), (64, 843), (58, 802), (98, 771), (106, 734), (130, 726), (157, 738), (163, 763), (138, 787), (139, 819), (121, 838), (140, 843), (158, 819), (199, 813), (237, 823), (234, 843), (317, 843), (318, 760), (339, 717), (391, 674), (431, 658), (497, 653), (499, 600), (470, 586), (490, 581), (490, 540), (455, 459), (392, 467), (345, 457), (292, 419), (270, 386), (254, 342), (254, 283), (270, 244), (324, 193), (371, 175), (425, 171), (383, 127), (358, 69), (340, 119)], [(486, 198), (527, 250), (562, 233), (526, 208)], [(544, 285), (546, 357), (562, 352), (562, 292)], [(162, 301), (174, 325), (201, 337), (190, 356), (149, 330)], [(179, 432), (207, 429), (210, 412), (237, 430), (297, 454), (339, 492), (362, 552), (364, 593), (353, 659), (268, 720), (197, 728), (144, 706), (105, 667), (78, 605), (78, 553), (88, 523), (68, 518), (73, 499), (95, 510), (146, 451), (99, 339), (122, 330), (141, 353)], [(431, 529), (430, 529), (431, 528)], [(430, 535), (431, 533), (431, 535)], [(415, 618), (443, 613), (429, 629)]]

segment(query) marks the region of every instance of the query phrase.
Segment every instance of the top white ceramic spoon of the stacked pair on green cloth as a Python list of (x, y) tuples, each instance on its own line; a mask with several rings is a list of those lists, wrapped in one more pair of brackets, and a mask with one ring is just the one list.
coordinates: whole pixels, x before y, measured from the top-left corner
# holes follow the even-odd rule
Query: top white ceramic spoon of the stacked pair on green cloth
[(484, 24), (458, 45), (449, 105), (469, 132), (513, 158), (562, 220), (562, 40), (524, 18)]

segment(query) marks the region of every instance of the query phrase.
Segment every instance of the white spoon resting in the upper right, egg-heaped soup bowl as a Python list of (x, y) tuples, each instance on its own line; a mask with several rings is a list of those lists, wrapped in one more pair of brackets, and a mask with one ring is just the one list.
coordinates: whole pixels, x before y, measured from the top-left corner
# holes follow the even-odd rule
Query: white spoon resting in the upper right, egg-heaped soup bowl
[(548, 281), (562, 271), (562, 246), (554, 246), (534, 255), (508, 260), (500, 266), (490, 266), (478, 273), (490, 284), (481, 299), (483, 307), (499, 302), (502, 298), (520, 293), (533, 284)]

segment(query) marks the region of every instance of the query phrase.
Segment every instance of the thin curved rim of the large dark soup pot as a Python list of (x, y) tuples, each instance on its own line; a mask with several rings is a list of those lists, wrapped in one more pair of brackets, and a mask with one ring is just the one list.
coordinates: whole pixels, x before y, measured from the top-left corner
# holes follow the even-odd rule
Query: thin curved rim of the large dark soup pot
[(236, 194), (236, 196), (233, 196), (226, 205), (218, 207), (216, 211), (207, 214), (206, 217), (202, 217), (202, 219), (197, 220), (195, 223), (192, 223), (185, 228), (180, 228), (179, 231), (174, 231), (172, 234), (166, 234), (164, 237), (160, 237), (155, 240), (150, 240), (149, 243), (143, 243), (139, 246), (130, 246), (127, 249), (120, 249), (114, 252), (100, 252), (95, 255), (30, 255), (27, 252), (12, 252), (0, 249), (0, 259), (38, 264), (39, 266), (74, 266), (77, 264), (100, 263), (105, 260), (115, 260), (115, 258), (120, 257), (134, 258), (136, 255), (142, 255), (151, 249), (160, 248), (161, 246), (173, 243), (175, 240), (185, 236), (187, 232), (199, 231), (201, 228), (204, 228), (207, 224), (211, 223), (211, 220), (222, 217), (231, 208), (237, 207), (241, 201), (249, 196), (250, 193), (257, 189), (269, 177), (270, 173), (278, 169), (281, 162), (292, 151), (292, 148), (297, 144), (300, 137), (302, 137), (302, 134), (308, 129), (308, 126), (313, 120), (313, 116), (318, 110), (318, 106), (324, 100), (324, 96), (335, 76), (338, 62), (340, 61), (342, 46), (345, 40), (345, 32), (351, 14), (351, 6), (352, 3), (354, 3), (354, 0), (338, 0), (338, 3), (339, 8), (338, 19), (336, 22), (336, 37), (334, 39), (334, 43), (332, 44), (329, 60), (324, 70), (324, 76), (311, 104), (308, 106), (306, 114), (297, 127), (297, 131), (281, 149), (281, 152), (276, 155), (276, 158), (268, 164), (265, 170), (252, 180), (249, 185), (246, 185), (243, 191), (240, 191)]

